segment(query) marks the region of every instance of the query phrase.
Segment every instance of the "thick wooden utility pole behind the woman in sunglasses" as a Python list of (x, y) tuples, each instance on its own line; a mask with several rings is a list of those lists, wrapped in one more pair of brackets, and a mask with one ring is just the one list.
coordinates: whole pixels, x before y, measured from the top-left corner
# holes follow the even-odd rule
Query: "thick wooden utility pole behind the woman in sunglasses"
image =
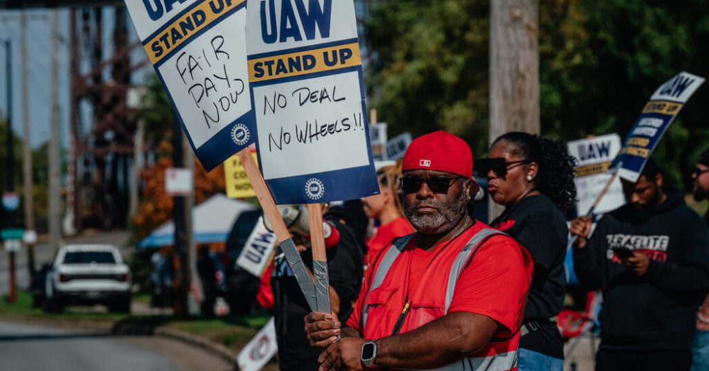
[[(540, 132), (539, 0), (490, 1), (490, 143)], [(490, 219), (501, 213), (490, 203)]]

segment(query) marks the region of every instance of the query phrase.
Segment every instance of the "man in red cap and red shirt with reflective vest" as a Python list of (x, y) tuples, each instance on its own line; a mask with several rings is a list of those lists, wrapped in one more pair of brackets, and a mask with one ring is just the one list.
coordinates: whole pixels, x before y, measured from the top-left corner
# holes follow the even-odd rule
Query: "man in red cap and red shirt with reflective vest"
[(311, 345), (325, 349), (320, 370), (516, 370), (532, 258), (470, 218), (472, 169), (470, 148), (454, 135), (411, 143), (401, 186), (416, 233), (372, 263), (344, 328), (333, 314), (306, 316)]

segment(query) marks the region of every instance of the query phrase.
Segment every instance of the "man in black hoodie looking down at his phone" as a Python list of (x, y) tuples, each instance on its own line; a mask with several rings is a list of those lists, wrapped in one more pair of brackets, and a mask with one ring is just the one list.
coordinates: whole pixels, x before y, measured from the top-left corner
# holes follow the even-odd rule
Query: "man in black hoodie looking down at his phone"
[(696, 309), (709, 287), (709, 232), (650, 159), (623, 181), (627, 204), (571, 223), (574, 271), (603, 290), (596, 370), (689, 370)]

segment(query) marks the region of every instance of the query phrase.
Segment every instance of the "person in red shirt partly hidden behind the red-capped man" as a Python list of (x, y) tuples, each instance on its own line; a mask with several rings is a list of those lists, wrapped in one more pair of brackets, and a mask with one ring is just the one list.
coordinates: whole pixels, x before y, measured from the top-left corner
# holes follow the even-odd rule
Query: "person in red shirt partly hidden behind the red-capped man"
[(379, 179), (379, 194), (362, 199), (364, 214), (369, 218), (379, 219), (381, 223), (372, 238), (367, 240), (367, 255), (364, 265), (374, 261), (381, 249), (389, 245), (397, 237), (413, 233), (413, 227), (403, 216), (403, 207), (397, 189), (398, 178), (401, 176), (401, 161), (396, 165), (382, 167), (376, 172)]

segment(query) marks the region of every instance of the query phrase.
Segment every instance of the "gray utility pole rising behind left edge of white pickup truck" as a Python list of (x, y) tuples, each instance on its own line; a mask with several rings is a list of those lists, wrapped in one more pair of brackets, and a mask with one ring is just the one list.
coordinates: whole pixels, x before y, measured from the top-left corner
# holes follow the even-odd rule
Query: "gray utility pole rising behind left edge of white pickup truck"
[(51, 248), (58, 249), (60, 245), (60, 228), (62, 216), (60, 213), (60, 179), (59, 179), (59, 101), (58, 101), (58, 70), (59, 70), (59, 53), (57, 45), (57, 10), (52, 10), (52, 42), (50, 54), (52, 55), (52, 74), (51, 74), (51, 98), (50, 107), (52, 119), (50, 121), (50, 139), (49, 139), (49, 235)]

